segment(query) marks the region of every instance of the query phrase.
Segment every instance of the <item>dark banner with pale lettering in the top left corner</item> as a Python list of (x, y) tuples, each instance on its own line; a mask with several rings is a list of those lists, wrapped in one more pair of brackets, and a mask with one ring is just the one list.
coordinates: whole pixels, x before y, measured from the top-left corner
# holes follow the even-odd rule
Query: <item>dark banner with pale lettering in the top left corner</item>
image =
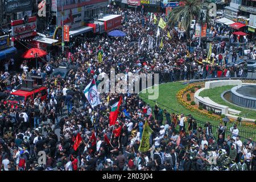
[(3, 6), (6, 13), (16, 13), (33, 9), (32, 0), (4, 0)]

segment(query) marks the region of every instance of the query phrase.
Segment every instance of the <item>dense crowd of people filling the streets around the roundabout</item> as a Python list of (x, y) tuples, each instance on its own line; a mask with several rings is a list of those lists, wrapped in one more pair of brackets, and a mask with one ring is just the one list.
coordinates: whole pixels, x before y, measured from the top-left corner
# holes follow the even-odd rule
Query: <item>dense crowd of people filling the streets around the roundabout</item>
[[(101, 104), (90, 106), (84, 95), (85, 86), (94, 76), (110, 75), (111, 68), (115, 73), (159, 73), (160, 82), (216, 77), (220, 70), (224, 76), (230, 71), (233, 77), (235, 72), (238, 76), (240, 69), (244, 69), (217, 64), (221, 54), (215, 46), (211, 58), (214, 64), (203, 63), (208, 52), (199, 47), (191, 52), (190, 40), (186, 42), (182, 38), (186, 35), (175, 28), (168, 28), (171, 38), (162, 30), (160, 37), (164, 39), (164, 46), (159, 48), (160, 37), (155, 38), (158, 26), (150, 21), (150, 13), (122, 9), (113, 9), (112, 13), (122, 14), (121, 29), (127, 34), (125, 38), (107, 35), (79, 38), (74, 40), (71, 53), (52, 53), (48, 63), (38, 69), (29, 68), (24, 61), (20, 72), (14, 76), (9, 74), (8, 66), (1, 72), (1, 92), (10, 92), (33, 75), (43, 77), (43, 86), (48, 92), (43, 101), (36, 97), (14, 106), (1, 101), (1, 169), (255, 170), (255, 142), (251, 139), (242, 142), (236, 126), (228, 131), (220, 123), (215, 139), (210, 123), (197, 126), (192, 115), (170, 114), (157, 105), (152, 108), (137, 94), (101, 94)], [(164, 15), (159, 16), (164, 18)], [(218, 28), (214, 32), (221, 34)], [(102, 61), (98, 60), (98, 52), (102, 52)], [(226, 56), (223, 59), (226, 60)], [(52, 69), (63, 62), (75, 66), (76, 70), (69, 71), (65, 78), (52, 76)], [(117, 124), (109, 127), (109, 103), (120, 95), (123, 99)], [(154, 132), (148, 151), (140, 152), (146, 121)], [(122, 130), (117, 137), (113, 130), (119, 126)], [(82, 140), (75, 150), (78, 135)], [(42, 151), (46, 156), (41, 155)], [(40, 163), (42, 156), (45, 164)]]

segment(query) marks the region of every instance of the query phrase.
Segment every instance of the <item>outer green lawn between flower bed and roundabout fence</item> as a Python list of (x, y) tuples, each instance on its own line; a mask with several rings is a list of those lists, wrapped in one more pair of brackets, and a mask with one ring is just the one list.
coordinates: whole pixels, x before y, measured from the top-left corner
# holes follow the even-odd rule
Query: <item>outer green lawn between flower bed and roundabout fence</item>
[[(185, 115), (188, 114), (192, 114), (192, 116), (194, 118), (196, 118), (197, 120), (200, 120), (202, 122), (210, 122), (212, 123), (212, 125), (214, 126), (218, 126), (218, 121), (214, 121), (212, 119), (206, 118), (201, 116), (200, 114), (196, 114), (193, 113), (192, 111), (186, 109), (185, 107), (183, 107), (182, 105), (179, 104), (179, 102), (177, 102), (177, 97), (176, 94), (177, 92), (179, 92), (179, 90), (185, 88), (187, 85), (183, 85), (181, 84), (181, 82), (170, 82), (170, 83), (166, 83), (166, 84), (160, 84), (159, 85), (159, 97), (156, 100), (159, 107), (161, 107), (162, 109), (166, 109), (168, 110), (170, 113), (176, 113), (176, 111), (179, 111), (180, 113), (183, 113)], [(145, 94), (139, 94), (139, 96), (142, 98), (143, 101), (147, 102), (148, 104), (150, 104), (152, 107), (155, 106), (155, 101), (154, 100), (148, 100), (148, 93)], [(174, 111), (174, 110), (176, 111)], [(228, 123), (228, 129), (230, 127), (232, 127), (232, 123)], [(254, 128), (251, 127), (244, 127), (242, 126), (242, 129), (240, 129), (240, 127), (238, 127), (238, 129), (240, 131), (251, 131), (251, 132), (255, 132)], [(253, 136), (251, 136), (254, 140), (256, 139), (255, 134)]]

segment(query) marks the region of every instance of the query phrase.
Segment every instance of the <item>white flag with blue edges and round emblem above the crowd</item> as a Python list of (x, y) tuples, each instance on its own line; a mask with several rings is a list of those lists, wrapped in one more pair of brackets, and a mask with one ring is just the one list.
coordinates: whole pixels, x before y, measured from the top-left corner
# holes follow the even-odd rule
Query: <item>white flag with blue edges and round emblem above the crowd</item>
[(95, 106), (101, 104), (100, 95), (98, 94), (98, 90), (97, 90), (97, 86), (96, 86), (96, 82), (95, 82), (94, 78), (85, 87), (84, 94), (92, 107), (95, 107)]

